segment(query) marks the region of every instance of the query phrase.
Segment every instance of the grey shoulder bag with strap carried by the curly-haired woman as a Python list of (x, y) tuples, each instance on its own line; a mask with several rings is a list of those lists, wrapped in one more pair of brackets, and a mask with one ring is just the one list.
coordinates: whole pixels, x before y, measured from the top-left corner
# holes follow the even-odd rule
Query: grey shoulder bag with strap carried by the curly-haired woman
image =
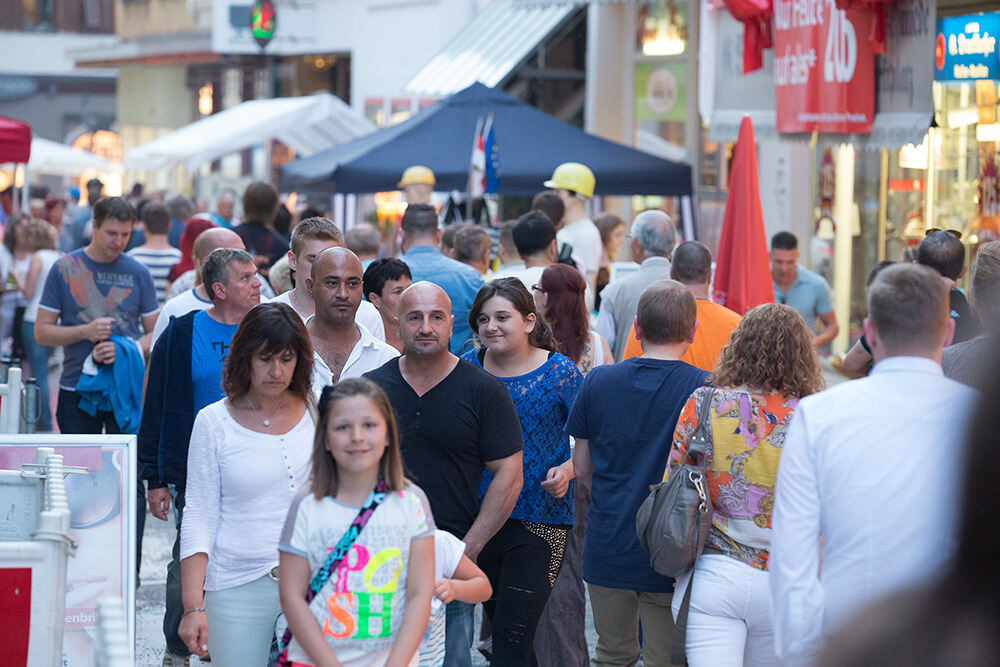
[[(658, 573), (677, 578), (694, 568), (712, 526), (712, 500), (705, 474), (712, 460), (712, 398), (715, 388), (702, 393), (696, 408), (698, 423), (688, 440), (687, 454), (667, 477), (655, 485), (639, 507), (635, 529), (639, 543), (649, 551)], [(671, 662), (685, 665), (687, 616), (694, 572), (674, 621)]]

